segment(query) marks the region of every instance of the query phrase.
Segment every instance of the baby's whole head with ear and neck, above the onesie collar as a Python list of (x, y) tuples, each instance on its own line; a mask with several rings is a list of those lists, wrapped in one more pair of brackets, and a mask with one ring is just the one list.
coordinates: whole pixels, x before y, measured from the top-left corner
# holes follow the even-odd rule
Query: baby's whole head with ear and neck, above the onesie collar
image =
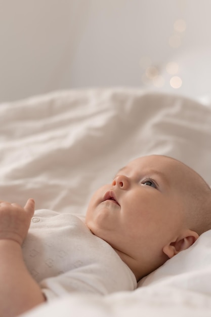
[(94, 193), (86, 223), (140, 280), (211, 229), (211, 189), (171, 157), (140, 157)]

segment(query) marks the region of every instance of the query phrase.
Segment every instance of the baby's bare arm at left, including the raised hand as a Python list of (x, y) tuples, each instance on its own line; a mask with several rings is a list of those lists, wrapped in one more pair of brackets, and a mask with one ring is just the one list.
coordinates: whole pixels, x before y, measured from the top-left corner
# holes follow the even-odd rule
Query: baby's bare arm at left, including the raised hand
[(0, 316), (12, 317), (45, 301), (23, 261), (21, 245), (34, 213), (34, 201), (24, 208), (0, 201)]

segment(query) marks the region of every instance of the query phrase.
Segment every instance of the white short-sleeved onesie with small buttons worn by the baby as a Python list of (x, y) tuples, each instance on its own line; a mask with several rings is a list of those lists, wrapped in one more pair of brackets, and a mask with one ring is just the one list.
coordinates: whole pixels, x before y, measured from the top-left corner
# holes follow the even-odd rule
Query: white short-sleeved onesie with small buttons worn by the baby
[(134, 273), (113, 248), (71, 214), (35, 211), (22, 249), (48, 300), (75, 291), (104, 295), (137, 287)]

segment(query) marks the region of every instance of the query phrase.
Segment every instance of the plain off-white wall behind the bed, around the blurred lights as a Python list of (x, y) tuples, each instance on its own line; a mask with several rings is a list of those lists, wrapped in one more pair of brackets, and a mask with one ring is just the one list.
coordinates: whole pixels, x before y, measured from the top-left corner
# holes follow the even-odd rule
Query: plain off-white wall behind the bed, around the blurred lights
[[(0, 0), (0, 102), (116, 86), (209, 95), (210, 12), (209, 0)], [(179, 47), (170, 46), (172, 36)], [(159, 81), (146, 76), (143, 57)], [(175, 73), (168, 62), (177, 63)]]

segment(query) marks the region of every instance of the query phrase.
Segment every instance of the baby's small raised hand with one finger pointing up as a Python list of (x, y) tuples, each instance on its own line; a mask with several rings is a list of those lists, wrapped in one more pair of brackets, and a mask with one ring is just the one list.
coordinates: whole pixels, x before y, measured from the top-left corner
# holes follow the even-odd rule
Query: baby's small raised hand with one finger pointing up
[(34, 201), (29, 199), (22, 208), (0, 201), (0, 240), (13, 240), (22, 245), (34, 214)]

